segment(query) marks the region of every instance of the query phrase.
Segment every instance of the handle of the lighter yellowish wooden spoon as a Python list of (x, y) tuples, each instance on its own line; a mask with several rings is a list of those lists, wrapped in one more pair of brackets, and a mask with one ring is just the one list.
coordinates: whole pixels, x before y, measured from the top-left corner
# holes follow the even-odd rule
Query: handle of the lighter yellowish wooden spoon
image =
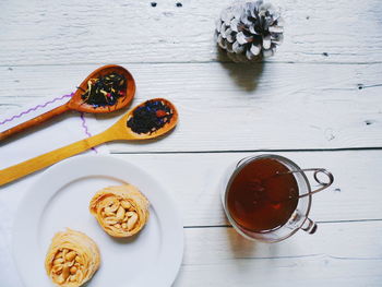
[(92, 137), (72, 143), (21, 164), (4, 168), (0, 170), (0, 187), (19, 178), (33, 174), (37, 170), (40, 170), (45, 167), (51, 166), (62, 159), (80, 154), (94, 146), (112, 140), (112, 134), (110, 134), (108, 131), (105, 131)]

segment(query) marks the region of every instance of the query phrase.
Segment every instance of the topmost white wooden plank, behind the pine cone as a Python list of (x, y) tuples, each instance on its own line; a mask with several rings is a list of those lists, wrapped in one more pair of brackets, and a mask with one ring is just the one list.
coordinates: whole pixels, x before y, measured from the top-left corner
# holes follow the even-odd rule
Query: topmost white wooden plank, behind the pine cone
[[(231, 0), (0, 3), (0, 62), (73, 64), (219, 60), (215, 20)], [(379, 0), (273, 0), (286, 21), (270, 61), (381, 62)]]

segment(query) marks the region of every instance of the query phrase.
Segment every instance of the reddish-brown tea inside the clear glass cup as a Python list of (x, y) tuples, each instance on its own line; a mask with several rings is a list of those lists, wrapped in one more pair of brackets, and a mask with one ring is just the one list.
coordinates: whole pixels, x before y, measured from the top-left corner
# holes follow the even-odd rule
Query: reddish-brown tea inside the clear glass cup
[(260, 158), (238, 171), (229, 184), (227, 207), (232, 219), (250, 231), (283, 226), (298, 202), (298, 183), (289, 169), (273, 158)]

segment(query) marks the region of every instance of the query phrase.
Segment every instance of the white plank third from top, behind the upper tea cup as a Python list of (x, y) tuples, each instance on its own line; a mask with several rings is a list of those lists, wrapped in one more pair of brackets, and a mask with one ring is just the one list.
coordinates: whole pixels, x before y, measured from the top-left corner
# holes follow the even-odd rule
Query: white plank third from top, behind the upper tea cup
[[(277, 153), (301, 168), (324, 167), (334, 175), (331, 188), (313, 195), (317, 222), (382, 219), (382, 151)], [(165, 186), (183, 211), (186, 226), (227, 225), (219, 182), (227, 168), (255, 153), (115, 155), (138, 165)], [(314, 186), (312, 181), (312, 186)], [(320, 224), (319, 224), (320, 228)]]

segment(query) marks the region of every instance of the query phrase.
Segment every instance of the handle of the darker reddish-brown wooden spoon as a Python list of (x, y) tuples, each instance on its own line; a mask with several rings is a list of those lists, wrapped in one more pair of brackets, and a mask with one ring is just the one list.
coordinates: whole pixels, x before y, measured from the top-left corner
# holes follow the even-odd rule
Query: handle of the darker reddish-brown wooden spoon
[(62, 106), (59, 106), (57, 108), (53, 108), (52, 110), (49, 110), (43, 115), (39, 115), (31, 120), (27, 120), (25, 122), (22, 122), (11, 129), (8, 129), (3, 132), (0, 132), (0, 142), (8, 139), (9, 136), (13, 135), (13, 134), (16, 134), (16, 133), (20, 133), (28, 128), (32, 128), (32, 127), (36, 127), (62, 112), (65, 112), (67, 110), (69, 110), (69, 105), (68, 103), (67, 104), (63, 104)]

